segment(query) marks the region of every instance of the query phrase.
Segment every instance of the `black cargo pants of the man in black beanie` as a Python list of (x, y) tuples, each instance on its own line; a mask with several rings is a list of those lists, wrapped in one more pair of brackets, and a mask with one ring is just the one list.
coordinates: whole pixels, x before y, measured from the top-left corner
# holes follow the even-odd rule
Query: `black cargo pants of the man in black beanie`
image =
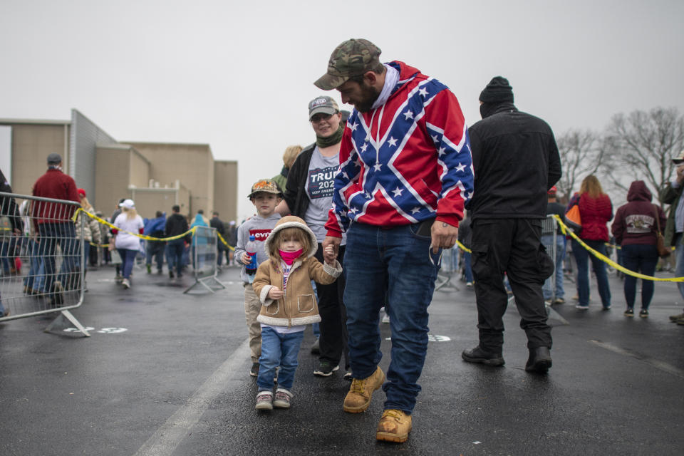
[(472, 274), (475, 277), (480, 347), (501, 353), (502, 317), (508, 304), (508, 276), (527, 347), (551, 348), (551, 327), (541, 286), (554, 265), (540, 242), (541, 219), (475, 219), (472, 222)]

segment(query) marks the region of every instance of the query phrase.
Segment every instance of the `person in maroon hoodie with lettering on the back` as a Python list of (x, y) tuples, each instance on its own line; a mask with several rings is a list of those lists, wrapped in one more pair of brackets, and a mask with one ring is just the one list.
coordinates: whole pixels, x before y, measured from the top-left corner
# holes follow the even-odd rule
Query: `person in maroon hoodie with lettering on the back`
[[(660, 206), (651, 203), (653, 195), (643, 180), (635, 180), (627, 192), (627, 204), (618, 208), (611, 232), (615, 242), (620, 244), (623, 255), (623, 266), (630, 271), (641, 272), (653, 276), (658, 264), (658, 248), (655, 247), (660, 232), (665, 229), (667, 218)], [(656, 218), (657, 217), (657, 218)], [(636, 298), (636, 277), (625, 276), (625, 316), (634, 316), (634, 300)], [(648, 305), (653, 298), (653, 281), (641, 281), (641, 318), (648, 317)]]

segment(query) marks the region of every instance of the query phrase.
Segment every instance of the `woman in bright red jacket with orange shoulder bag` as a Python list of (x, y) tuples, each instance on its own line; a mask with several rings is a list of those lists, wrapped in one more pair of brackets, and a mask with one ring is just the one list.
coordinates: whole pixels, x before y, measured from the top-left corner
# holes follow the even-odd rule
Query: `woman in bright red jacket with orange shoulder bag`
[[(579, 215), (582, 221), (582, 229), (579, 238), (592, 249), (603, 255), (606, 254), (606, 242), (608, 242), (608, 223), (613, 218), (613, 203), (603, 193), (601, 182), (594, 175), (584, 178), (576, 193), (570, 200), (568, 209), (575, 204), (579, 205)], [(572, 239), (572, 254), (577, 263), (577, 295), (579, 303), (577, 309), (589, 309), (589, 258), (596, 272), (598, 294), (601, 296), (603, 310), (611, 308), (611, 289), (608, 286), (608, 272), (606, 264), (590, 254), (588, 250)]]

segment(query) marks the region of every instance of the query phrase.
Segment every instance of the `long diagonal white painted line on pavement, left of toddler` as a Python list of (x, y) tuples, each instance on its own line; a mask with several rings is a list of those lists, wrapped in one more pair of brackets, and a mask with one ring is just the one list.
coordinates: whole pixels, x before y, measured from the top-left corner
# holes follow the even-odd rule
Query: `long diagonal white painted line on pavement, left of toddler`
[(199, 418), (209, 408), (212, 400), (227, 388), (234, 375), (243, 373), (239, 367), (249, 359), (249, 338), (235, 350), (224, 363), (147, 439), (134, 456), (169, 456), (190, 433)]

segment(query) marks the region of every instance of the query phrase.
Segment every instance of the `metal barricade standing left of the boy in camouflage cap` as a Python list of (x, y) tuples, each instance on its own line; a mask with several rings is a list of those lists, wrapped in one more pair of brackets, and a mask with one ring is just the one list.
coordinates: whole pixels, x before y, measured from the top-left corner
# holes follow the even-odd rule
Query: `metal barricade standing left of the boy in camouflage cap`
[(202, 285), (207, 290), (214, 293), (212, 286), (226, 288), (217, 278), (217, 235), (216, 228), (195, 227), (195, 234), (192, 236), (192, 271), (195, 276), (195, 283), (189, 286), (183, 293), (187, 293), (195, 286)]

